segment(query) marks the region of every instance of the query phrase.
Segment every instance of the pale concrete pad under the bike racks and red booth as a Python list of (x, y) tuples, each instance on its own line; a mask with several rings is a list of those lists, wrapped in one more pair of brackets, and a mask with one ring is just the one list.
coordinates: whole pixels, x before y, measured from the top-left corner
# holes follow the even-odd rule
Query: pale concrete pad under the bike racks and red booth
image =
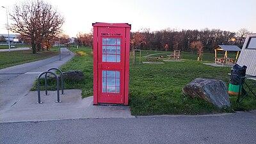
[(65, 90), (56, 103), (56, 91), (41, 92), (42, 104), (36, 104), (37, 92), (29, 92), (0, 113), (0, 122), (29, 122), (79, 118), (134, 118), (129, 106), (93, 106), (93, 97), (81, 99), (81, 90)]

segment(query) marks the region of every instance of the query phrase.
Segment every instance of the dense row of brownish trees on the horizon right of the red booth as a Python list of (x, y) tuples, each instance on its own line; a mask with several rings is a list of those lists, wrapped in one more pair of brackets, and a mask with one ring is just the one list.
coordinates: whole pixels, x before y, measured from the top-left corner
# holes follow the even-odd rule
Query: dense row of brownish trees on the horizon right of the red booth
[[(138, 32), (132, 32), (131, 35)], [(191, 42), (200, 41), (204, 45), (205, 52), (214, 52), (216, 45), (237, 45), (242, 47), (246, 35), (252, 33), (247, 29), (240, 29), (237, 32), (225, 31), (221, 29), (163, 29), (150, 31), (141, 29), (139, 32), (145, 36), (147, 45), (141, 45), (140, 49), (164, 51), (180, 50), (190, 52)], [(168, 45), (168, 47), (166, 46)]]

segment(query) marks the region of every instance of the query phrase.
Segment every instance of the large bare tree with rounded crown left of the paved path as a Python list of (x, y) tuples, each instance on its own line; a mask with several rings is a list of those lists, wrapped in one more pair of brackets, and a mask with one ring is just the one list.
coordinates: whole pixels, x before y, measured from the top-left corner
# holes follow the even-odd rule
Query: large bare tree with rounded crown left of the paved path
[(33, 53), (42, 50), (42, 44), (49, 44), (51, 38), (60, 34), (63, 17), (42, 0), (26, 1), (15, 5), (10, 14), (11, 30), (31, 41)]

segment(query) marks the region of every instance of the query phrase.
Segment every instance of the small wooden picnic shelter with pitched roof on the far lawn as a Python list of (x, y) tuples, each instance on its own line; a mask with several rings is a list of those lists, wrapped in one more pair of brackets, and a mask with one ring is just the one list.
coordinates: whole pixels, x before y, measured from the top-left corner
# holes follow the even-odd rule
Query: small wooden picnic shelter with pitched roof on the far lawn
[[(241, 49), (237, 47), (237, 45), (218, 45), (216, 49), (214, 49), (214, 51), (215, 51), (215, 57), (214, 57), (215, 63), (221, 63), (224, 65), (225, 63), (236, 63)], [(218, 58), (217, 56), (218, 51), (225, 51), (224, 56)], [(229, 51), (236, 52), (236, 58), (228, 58)]]

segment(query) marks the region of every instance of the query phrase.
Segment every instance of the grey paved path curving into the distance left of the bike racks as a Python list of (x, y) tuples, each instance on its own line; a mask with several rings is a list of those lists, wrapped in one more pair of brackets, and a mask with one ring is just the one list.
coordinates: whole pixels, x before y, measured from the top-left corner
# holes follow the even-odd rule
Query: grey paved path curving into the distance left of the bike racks
[[(74, 56), (69, 55), (67, 49), (61, 49), (61, 61), (59, 56), (47, 58), (45, 60), (33, 61), (13, 67), (3, 68), (0, 70), (0, 113), (6, 108), (15, 104), (28, 92), (33, 82), (38, 76), (38, 72), (43, 72), (48, 68), (60, 67)], [(7, 74), (7, 73), (26, 73), (26, 74)], [(3, 75), (4, 74), (4, 75)]]

